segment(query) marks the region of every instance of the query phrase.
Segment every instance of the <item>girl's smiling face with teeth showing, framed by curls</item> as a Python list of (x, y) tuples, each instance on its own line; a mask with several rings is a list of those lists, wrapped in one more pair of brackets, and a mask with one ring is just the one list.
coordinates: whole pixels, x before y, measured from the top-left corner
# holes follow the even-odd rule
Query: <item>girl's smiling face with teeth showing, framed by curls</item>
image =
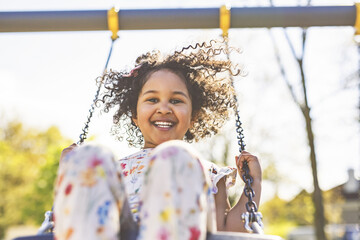
[(144, 148), (182, 140), (192, 124), (192, 102), (185, 80), (168, 69), (151, 73), (140, 91), (134, 123)]

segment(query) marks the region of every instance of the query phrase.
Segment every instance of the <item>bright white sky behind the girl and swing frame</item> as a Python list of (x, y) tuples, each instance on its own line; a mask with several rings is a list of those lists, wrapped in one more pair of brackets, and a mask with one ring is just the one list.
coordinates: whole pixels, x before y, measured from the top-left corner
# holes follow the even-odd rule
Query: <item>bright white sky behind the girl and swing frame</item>
[[(278, 1), (279, 4), (284, 2), (289, 1)], [(351, 4), (351, 1), (341, 2)], [(0, 11), (108, 9), (114, 5), (120, 8), (216, 7), (223, 3), (0, 0)], [(249, 5), (250, 1), (231, 3)], [(256, 1), (256, 4), (266, 3)], [(296, 63), (283, 32), (281, 29), (272, 32), (289, 79), (299, 93)], [(289, 33), (299, 50), (299, 31), (290, 29)], [(219, 29), (120, 31), (110, 68), (129, 69), (136, 56), (146, 51), (173, 51), (195, 41), (218, 38), (219, 34)], [(261, 157), (264, 166), (274, 161), (288, 179), (280, 186), (281, 196), (289, 198), (301, 188), (311, 190), (304, 122), (279, 72), (269, 30), (232, 29), (230, 41), (243, 49), (234, 61), (248, 72), (237, 85), (248, 149)], [(28, 126), (41, 129), (56, 125), (67, 137), (77, 141), (95, 94), (95, 78), (101, 75), (105, 64), (110, 33), (0, 33), (0, 43), (0, 121), (18, 118)], [(345, 182), (349, 167), (355, 168), (359, 175), (360, 134), (356, 121), (359, 93), (354, 79), (350, 78), (346, 84), (346, 79), (357, 70), (358, 57), (351, 27), (309, 30), (305, 70), (323, 189)], [(228, 128), (232, 124), (229, 123)], [(97, 112), (90, 125), (90, 134), (97, 136), (98, 143), (109, 146), (118, 156), (136, 151), (128, 149), (125, 143), (115, 142), (108, 133), (110, 126), (111, 115)], [(235, 136), (231, 137), (236, 143)], [(207, 144), (199, 148), (205, 149)], [(271, 196), (273, 188), (265, 186), (265, 196)]]

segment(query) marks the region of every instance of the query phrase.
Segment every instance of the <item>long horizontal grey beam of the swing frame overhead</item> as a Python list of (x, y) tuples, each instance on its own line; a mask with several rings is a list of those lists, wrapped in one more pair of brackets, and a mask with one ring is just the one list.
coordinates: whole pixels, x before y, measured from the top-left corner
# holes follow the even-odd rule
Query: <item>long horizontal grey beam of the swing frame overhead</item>
[[(354, 26), (356, 6), (231, 9), (231, 28)], [(219, 28), (218, 8), (124, 9), (120, 30)], [(108, 30), (107, 10), (0, 12), (0, 32)]]

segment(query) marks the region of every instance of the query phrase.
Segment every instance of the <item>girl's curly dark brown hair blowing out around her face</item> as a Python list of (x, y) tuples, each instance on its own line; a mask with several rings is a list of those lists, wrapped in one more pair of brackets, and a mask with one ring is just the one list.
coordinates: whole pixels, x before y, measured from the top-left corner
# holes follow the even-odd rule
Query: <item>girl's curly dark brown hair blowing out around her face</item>
[(136, 67), (131, 72), (110, 71), (104, 74), (99, 81), (103, 81), (105, 91), (97, 102), (104, 104), (104, 112), (116, 108), (112, 134), (122, 140), (126, 133), (129, 146), (143, 145), (141, 131), (132, 118), (136, 118), (142, 87), (152, 73), (161, 69), (170, 70), (184, 79), (189, 91), (194, 124), (186, 132), (184, 140), (198, 141), (216, 134), (229, 119), (230, 112), (236, 110), (231, 77), (241, 71), (227, 58), (229, 51), (233, 50), (212, 40), (183, 47), (166, 56), (158, 51), (148, 52), (136, 59)]

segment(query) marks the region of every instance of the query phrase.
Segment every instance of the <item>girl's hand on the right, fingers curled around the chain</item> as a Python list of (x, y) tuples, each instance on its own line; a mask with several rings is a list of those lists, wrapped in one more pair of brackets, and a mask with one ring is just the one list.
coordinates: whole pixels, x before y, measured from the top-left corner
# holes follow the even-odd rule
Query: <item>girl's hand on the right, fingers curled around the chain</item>
[(262, 179), (261, 166), (260, 166), (259, 160), (256, 156), (254, 156), (251, 153), (248, 153), (246, 151), (242, 151), (240, 156), (235, 157), (235, 161), (236, 161), (236, 167), (237, 167), (238, 172), (241, 177), (244, 174), (244, 170), (242, 169), (243, 164), (244, 164), (244, 162), (247, 162), (248, 166), (249, 166), (249, 170), (250, 170), (249, 171), (250, 176), (254, 179), (254, 181), (255, 180), (261, 181), (261, 179)]

